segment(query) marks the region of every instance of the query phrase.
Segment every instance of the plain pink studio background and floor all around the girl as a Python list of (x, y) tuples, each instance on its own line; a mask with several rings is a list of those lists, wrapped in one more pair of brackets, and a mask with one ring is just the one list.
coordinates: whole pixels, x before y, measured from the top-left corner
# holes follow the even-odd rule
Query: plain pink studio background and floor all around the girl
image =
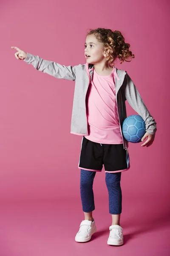
[[(60, 250), (84, 255), (84, 247), (90, 255), (107, 250), (133, 255), (131, 249), (134, 255), (167, 255), (169, 8), (166, 0), (1, 1), (1, 255), (53, 256)], [(84, 64), (86, 33), (98, 27), (121, 31), (130, 44), (135, 58), (117, 61), (116, 67), (127, 70), (158, 129), (148, 148), (129, 143), (131, 167), (121, 180), (125, 243), (119, 248), (106, 243), (111, 215), (104, 167), (94, 180), (99, 232), (86, 245), (74, 241), (84, 219), (78, 169), (82, 136), (70, 134), (75, 82), (35, 70), (11, 49), (59, 64)], [(136, 114), (126, 106), (127, 116)]]

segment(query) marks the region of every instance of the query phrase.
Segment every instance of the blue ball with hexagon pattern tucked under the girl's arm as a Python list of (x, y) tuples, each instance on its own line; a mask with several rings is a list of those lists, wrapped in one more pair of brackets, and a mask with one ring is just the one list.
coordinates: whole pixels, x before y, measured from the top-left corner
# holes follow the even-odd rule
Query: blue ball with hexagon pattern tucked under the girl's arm
[(127, 116), (122, 125), (123, 136), (131, 143), (141, 142), (146, 132), (144, 119), (139, 115)]

